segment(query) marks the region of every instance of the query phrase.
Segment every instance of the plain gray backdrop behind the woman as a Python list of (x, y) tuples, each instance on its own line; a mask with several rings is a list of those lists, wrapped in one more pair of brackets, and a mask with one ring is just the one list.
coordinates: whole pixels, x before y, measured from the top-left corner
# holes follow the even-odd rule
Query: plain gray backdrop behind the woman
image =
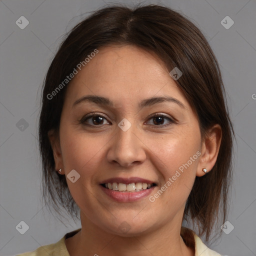
[[(61, 36), (79, 21), (82, 13), (105, 3), (109, 2), (0, 1), (0, 255), (14, 255), (56, 242), (66, 232), (80, 227), (79, 221), (72, 220), (64, 226), (58, 216), (50, 214), (41, 204), (37, 143), (40, 88)], [(256, 255), (256, 94), (253, 94), (256, 93), (256, 2), (166, 0), (144, 3), (163, 3), (182, 11), (202, 30), (216, 54), (237, 144), (232, 202), (227, 218), (234, 229), (228, 235), (222, 232), (221, 239), (210, 248), (230, 256)], [(21, 15), (29, 21), (24, 29), (15, 24)], [(229, 29), (220, 23), (226, 15), (234, 21)], [(16, 126), (21, 118), (28, 127)], [(25, 123), (24, 120), (19, 123)], [(21, 220), (29, 226), (24, 234), (15, 228)]]

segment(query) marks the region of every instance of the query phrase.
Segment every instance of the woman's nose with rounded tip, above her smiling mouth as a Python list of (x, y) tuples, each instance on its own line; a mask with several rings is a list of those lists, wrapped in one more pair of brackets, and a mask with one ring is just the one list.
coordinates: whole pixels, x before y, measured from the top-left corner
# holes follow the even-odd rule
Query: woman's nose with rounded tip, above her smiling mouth
[(146, 146), (141, 141), (135, 125), (131, 125), (126, 131), (117, 127), (116, 134), (109, 142), (108, 162), (129, 167), (142, 163), (146, 159)]

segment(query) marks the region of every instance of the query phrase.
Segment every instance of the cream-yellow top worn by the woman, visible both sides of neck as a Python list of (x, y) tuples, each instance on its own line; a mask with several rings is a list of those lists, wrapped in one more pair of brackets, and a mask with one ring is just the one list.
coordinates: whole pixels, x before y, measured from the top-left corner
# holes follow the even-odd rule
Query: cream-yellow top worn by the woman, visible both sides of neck
[[(56, 243), (40, 246), (34, 251), (24, 252), (21, 254), (17, 254), (16, 256), (70, 256), (65, 245), (65, 239), (73, 236), (80, 230), (81, 228), (78, 228), (76, 230), (66, 233)], [(194, 242), (193, 246), (195, 249), (195, 256), (221, 256), (219, 253), (209, 249), (205, 244), (203, 244), (201, 239), (191, 229), (181, 227), (182, 238), (184, 239), (184, 236), (187, 237), (187, 235), (192, 235), (194, 238), (194, 241), (192, 241), (192, 243)]]

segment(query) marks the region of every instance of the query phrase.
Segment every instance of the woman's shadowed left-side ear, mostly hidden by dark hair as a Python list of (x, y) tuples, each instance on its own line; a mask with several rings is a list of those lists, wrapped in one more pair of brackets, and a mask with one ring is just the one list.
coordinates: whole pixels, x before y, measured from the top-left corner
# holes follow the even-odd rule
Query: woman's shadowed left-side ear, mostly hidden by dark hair
[(55, 161), (55, 169), (59, 170), (60, 168), (63, 167), (62, 155), (61, 155), (60, 143), (59, 143), (59, 136), (56, 135), (54, 130), (49, 130), (48, 138), (49, 138), (51, 148), (53, 151), (53, 157), (54, 157), (54, 161)]

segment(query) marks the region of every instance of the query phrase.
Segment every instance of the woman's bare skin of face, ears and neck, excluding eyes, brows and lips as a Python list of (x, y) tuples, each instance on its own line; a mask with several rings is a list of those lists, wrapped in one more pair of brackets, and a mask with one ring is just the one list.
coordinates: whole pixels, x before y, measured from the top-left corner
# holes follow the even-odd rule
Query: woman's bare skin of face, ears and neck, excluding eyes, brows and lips
[[(49, 139), (56, 169), (80, 174), (74, 183), (66, 178), (82, 227), (65, 240), (71, 256), (194, 255), (180, 236), (182, 216), (195, 176), (204, 175), (204, 167), (210, 171), (216, 161), (221, 128), (214, 125), (201, 139), (197, 116), (169, 71), (153, 53), (111, 45), (100, 48), (68, 85), (59, 137), (49, 132)], [(72, 106), (88, 94), (107, 97), (113, 106), (85, 101)], [(173, 97), (184, 107), (168, 101), (138, 106), (156, 96)], [(79, 122), (91, 112), (104, 117), (102, 122)], [(167, 118), (157, 125), (153, 113)], [(123, 118), (131, 123), (127, 131), (117, 126)], [(153, 195), (197, 151), (201, 155), (154, 202), (149, 196), (115, 202), (99, 187), (106, 178), (142, 177), (157, 183)], [(118, 228), (124, 221), (129, 225), (125, 233)]]

